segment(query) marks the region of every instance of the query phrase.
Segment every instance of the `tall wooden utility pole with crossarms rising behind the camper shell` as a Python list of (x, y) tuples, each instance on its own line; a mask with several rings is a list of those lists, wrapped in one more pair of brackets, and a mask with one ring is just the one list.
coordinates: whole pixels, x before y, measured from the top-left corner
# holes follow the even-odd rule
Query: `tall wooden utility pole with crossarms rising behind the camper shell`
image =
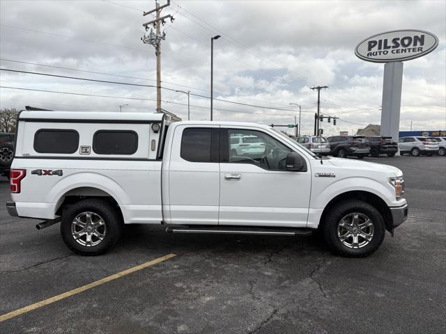
[[(155, 47), (155, 55), (156, 55), (156, 111), (157, 113), (161, 113), (161, 41), (166, 39), (166, 33), (163, 31), (160, 32), (160, 25), (166, 24), (166, 19), (170, 18), (171, 22), (174, 22), (174, 17), (171, 15), (165, 15), (163, 17), (161, 16), (161, 10), (162, 8), (165, 8), (167, 6), (170, 6), (170, 0), (167, 0), (167, 3), (165, 5), (160, 6), (160, 3), (157, 3), (155, 1), (156, 6), (155, 9), (149, 10), (148, 12), (144, 12), (143, 16), (152, 14), (153, 12), (156, 12), (156, 17), (150, 22), (144, 23), (142, 26), (148, 31), (148, 26), (152, 25), (153, 28), (155, 28), (155, 33), (153, 32), (153, 28), (151, 28), (150, 33), (146, 35), (144, 33), (144, 36), (141, 38), (142, 42), (144, 44), (150, 44)], [(153, 15), (153, 14), (152, 14)]]

